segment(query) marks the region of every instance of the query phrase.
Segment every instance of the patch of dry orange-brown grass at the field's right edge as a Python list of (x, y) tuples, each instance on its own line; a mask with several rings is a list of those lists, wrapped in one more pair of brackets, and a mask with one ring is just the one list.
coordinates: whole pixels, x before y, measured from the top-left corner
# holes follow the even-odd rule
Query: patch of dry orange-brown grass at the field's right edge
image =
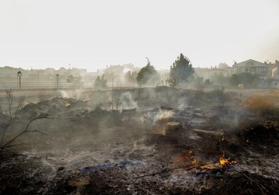
[(268, 96), (252, 96), (243, 102), (244, 107), (261, 116), (279, 116), (279, 107), (274, 98)]

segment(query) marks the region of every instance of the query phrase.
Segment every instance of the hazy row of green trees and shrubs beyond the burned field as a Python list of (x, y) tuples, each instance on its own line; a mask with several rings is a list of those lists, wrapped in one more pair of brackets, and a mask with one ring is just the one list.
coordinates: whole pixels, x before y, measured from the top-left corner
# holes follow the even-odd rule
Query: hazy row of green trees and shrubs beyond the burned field
[[(194, 68), (190, 60), (182, 53), (174, 61), (173, 65), (170, 66), (170, 72), (165, 80), (161, 79), (161, 75), (155, 69), (151, 62), (148, 61), (147, 65), (142, 67), (139, 72), (127, 71), (124, 75), (124, 79), (128, 82), (137, 83), (139, 86), (147, 84), (165, 84), (170, 87), (178, 87), (181, 83), (193, 83), (203, 85), (227, 85), (227, 86), (238, 86), (243, 84), (245, 87), (256, 87), (261, 79), (256, 74), (250, 72), (243, 72), (240, 74), (232, 74), (230, 77), (225, 77), (222, 73), (216, 73), (210, 78), (203, 79), (202, 77), (194, 77)], [(79, 86), (81, 83), (81, 77), (69, 76), (67, 82), (72, 83), (73, 87)], [(77, 84), (78, 83), (78, 84)], [(105, 76), (97, 76), (95, 78), (94, 87), (103, 88), (106, 87), (107, 80)]]

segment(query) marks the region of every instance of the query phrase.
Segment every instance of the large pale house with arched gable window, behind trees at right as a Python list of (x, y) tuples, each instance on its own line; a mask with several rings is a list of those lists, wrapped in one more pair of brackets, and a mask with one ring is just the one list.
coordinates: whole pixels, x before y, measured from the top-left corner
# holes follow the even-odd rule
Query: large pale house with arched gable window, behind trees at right
[(260, 63), (255, 60), (247, 60), (241, 63), (235, 63), (233, 66), (233, 72), (240, 74), (242, 72), (250, 72), (252, 74), (258, 74), (262, 78), (269, 78), (269, 65)]

